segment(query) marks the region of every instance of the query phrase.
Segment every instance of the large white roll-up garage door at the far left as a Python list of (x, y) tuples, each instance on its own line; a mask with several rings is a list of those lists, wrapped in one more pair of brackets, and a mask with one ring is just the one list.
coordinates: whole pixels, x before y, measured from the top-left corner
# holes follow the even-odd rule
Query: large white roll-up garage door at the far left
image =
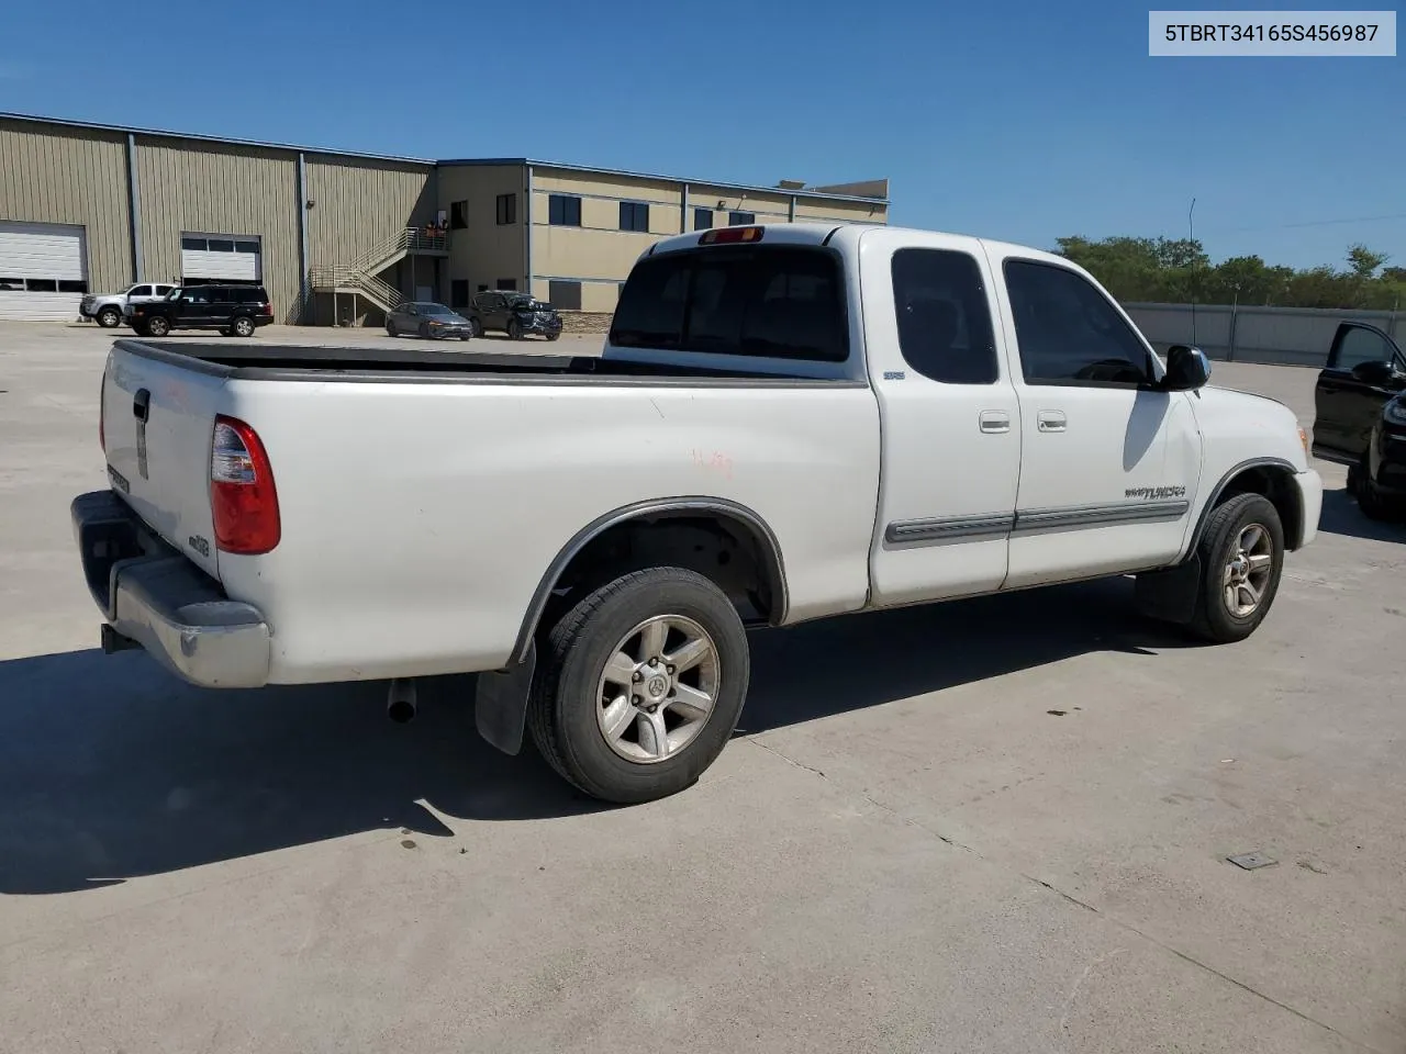
[(82, 226), (0, 219), (0, 319), (72, 322), (84, 292)]

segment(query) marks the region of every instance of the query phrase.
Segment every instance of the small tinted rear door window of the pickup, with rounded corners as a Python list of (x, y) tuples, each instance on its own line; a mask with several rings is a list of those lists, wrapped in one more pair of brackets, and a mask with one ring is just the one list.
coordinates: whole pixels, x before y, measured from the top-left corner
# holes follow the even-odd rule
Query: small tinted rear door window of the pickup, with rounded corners
[(976, 260), (946, 249), (900, 249), (891, 271), (904, 361), (942, 384), (995, 384), (991, 309)]

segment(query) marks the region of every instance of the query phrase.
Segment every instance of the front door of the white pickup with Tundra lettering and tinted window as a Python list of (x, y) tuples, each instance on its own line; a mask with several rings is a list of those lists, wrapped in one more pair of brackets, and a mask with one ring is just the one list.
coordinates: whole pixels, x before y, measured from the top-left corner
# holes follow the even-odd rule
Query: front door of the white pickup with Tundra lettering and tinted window
[(1195, 396), (1156, 389), (1152, 349), (1081, 273), (1021, 256), (991, 263), (1022, 424), (1007, 587), (1167, 564), (1201, 476)]

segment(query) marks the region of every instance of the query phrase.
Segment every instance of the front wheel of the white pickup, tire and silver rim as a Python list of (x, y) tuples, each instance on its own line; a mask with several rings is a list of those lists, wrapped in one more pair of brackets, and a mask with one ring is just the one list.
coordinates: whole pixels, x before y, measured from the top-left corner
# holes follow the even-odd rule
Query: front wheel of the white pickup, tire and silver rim
[[(1253, 535), (1254, 527), (1263, 535)], [(1278, 510), (1261, 495), (1230, 497), (1211, 512), (1197, 552), (1202, 571), (1191, 631), (1212, 644), (1243, 641), (1264, 621), (1279, 592), (1284, 524)], [(1263, 555), (1270, 558), (1263, 565), (1265, 573), (1256, 569), (1256, 558)], [(1232, 607), (1232, 596), (1237, 607)], [(1258, 599), (1249, 607), (1251, 596)]]

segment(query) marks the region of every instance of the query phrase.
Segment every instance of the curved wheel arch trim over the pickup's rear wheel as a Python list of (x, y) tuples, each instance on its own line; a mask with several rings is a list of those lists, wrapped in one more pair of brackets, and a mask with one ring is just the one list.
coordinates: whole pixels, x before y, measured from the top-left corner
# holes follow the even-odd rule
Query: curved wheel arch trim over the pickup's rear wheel
[(725, 497), (689, 496), (634, 502), (596, 517), (561, 547), (533, 592), (531, 603), (527, 606), (527, 613), (517, 631), (510, 663), (516, 665), (527, 659), (553, 592), (568, 576), (578, 558), (591, 551), (592, 542), (605, 540), (612, 531), (651, 528), (661, 524), (668, 526), (671, 521), (673, 524), (711, 521), (730, 534), (737, 534), (740, 540), (748, 541), (755, 549), (758, 569), (765, 578), (770, 597), (769, 610), (765, 613), (766, 621), (770, 625), (779, 625), (785, 621), (789, 597), (780, 542), (755, 510)]

